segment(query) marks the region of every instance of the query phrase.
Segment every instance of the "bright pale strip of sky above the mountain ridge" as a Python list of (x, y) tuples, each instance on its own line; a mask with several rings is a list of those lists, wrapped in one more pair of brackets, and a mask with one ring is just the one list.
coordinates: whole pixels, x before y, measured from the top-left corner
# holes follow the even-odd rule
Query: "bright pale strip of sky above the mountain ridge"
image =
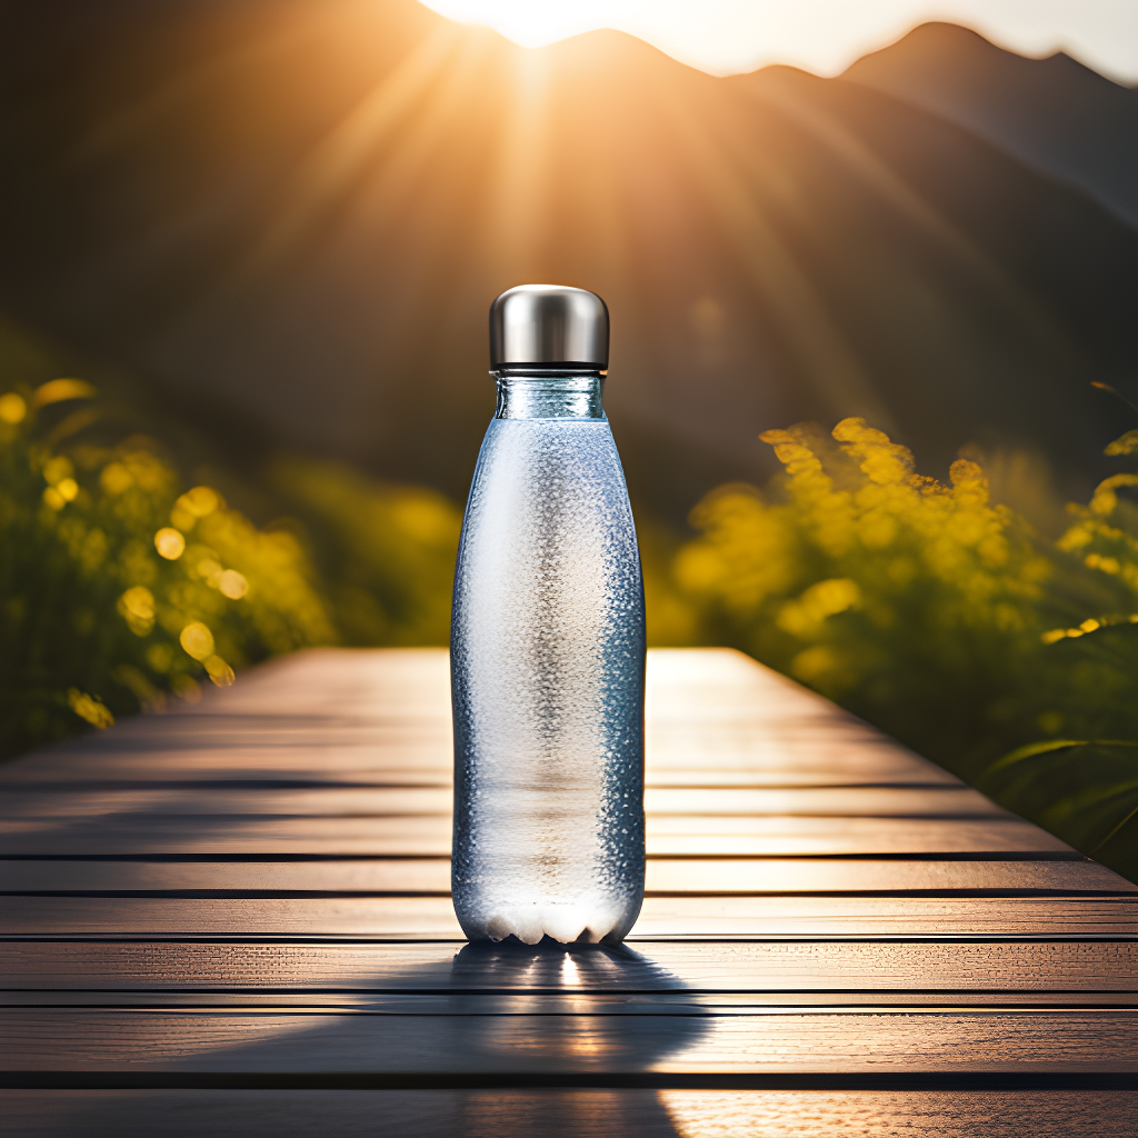
[(836, 75), (929, 20), (1025, 56), (1066, 51), (1138, 83), (1138, 0), (423, 0), (528, 48), (616, 27), (716, 75), (790, 64)]

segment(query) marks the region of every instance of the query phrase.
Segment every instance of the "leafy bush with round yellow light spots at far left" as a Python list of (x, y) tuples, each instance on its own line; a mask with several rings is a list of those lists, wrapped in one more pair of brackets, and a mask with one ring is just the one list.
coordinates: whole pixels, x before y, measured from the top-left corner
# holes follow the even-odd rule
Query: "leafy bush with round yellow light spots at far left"
[[(157, 445), (84, 442), (90, 385), (0, 397), (0, 748), (108, 726), (234, 669), (337, 638), (304, 551), (207, 486), (185, 493)], [(53, 424), (56, 405), (80, 403)]]

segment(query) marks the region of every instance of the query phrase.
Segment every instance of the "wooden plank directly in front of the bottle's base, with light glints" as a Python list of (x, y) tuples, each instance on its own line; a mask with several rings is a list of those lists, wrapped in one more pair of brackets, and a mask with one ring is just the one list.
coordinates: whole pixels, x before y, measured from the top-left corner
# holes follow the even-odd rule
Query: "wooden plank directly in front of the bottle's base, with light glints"
[[(568, 960), (568, 964), (567, 964)], [(1138, 941), (637, 941), (564, 951), (444, 943), (0, 943), (9, 989), (1133, 992)]]

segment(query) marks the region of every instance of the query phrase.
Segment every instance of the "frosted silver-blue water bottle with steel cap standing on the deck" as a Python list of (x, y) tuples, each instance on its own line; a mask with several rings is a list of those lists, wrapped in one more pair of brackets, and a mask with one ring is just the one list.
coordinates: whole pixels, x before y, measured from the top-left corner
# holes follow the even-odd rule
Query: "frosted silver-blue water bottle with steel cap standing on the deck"
[(644, 589), (601, 404), (609, 312), (490, 307), (497, 410), (454, 583), (454, 908), (471, 940), (616, 943), (644, 894)]

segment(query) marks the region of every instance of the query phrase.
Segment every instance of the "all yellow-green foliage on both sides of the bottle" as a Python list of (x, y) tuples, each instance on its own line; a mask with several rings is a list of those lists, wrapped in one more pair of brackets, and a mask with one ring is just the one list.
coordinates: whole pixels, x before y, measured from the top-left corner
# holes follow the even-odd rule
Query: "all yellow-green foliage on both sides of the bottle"
[[(305, 645), (446, 643), (454, 503), (295, 456), (185, 478), (207, 446), (28, 344), (0, 325), (0, 754)], [(1138, 475), (1052, 544), (861, 420), (764, 438), (785, 473), (709, 494), (694, 541), (640, 519), (650, 643), (741, 648), (1138, 879)]]

